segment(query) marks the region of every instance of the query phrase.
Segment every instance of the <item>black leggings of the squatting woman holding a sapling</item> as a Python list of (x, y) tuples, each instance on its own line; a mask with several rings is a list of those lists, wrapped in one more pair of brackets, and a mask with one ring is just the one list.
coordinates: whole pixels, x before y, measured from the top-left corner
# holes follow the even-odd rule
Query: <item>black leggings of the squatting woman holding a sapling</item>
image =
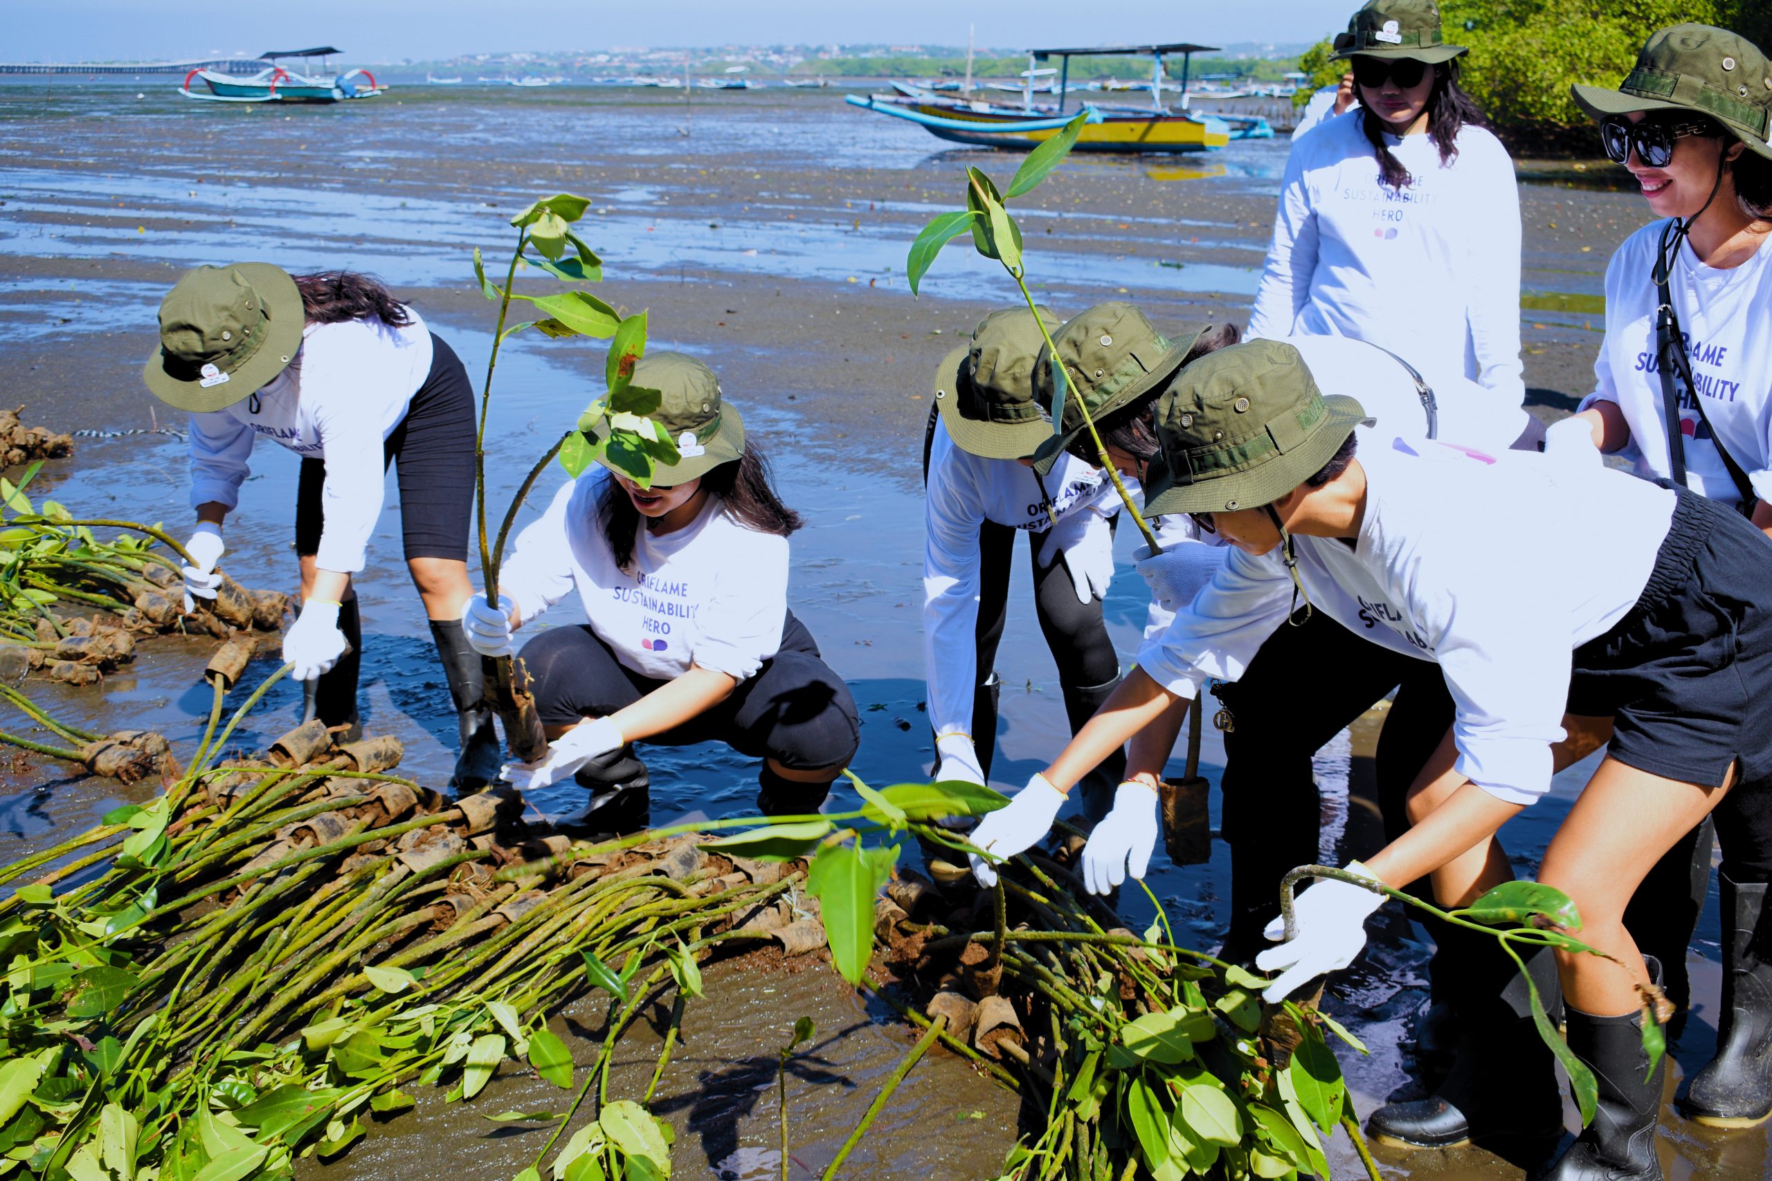
[[(523, 645), (523, 664), (542, 722), (571, 726), (606, 717), (668, 682), (641, 676), (615, 659), (590, 625), (555, 627)], [(689, 745), (725, 742), (739, 754), (773, 758), (789, 770), (843, 767), (861, 745), (856, 699), (819, 657), (806, 625), (789, 611), (781, 648), (732, 696), (641, 742)]]

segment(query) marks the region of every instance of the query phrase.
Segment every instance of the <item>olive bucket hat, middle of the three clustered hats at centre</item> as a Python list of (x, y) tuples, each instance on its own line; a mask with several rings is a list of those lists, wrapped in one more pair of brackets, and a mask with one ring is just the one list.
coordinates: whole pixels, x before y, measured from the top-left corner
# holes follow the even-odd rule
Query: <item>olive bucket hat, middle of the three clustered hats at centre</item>
[[(1065, 391), (1058, 432), (1049, 434), (1033, 453), (1033, 469), (1042, 476), (1053, 469), (1058, 455), (1083, 434), (1084, 409), (1090, 421), (1099, 423), (1166, 382), (1203, 331), (1196, 328), (1164, 336), (1138, 306), (1122, 299), (1099, 303), (1067, 320), (1053, 335), (1053, 343), (1072, 386)], [(1053, 413), (1053, 367), (1045, 349), (1033, 365), (1033, 398), (1047, 414)]]

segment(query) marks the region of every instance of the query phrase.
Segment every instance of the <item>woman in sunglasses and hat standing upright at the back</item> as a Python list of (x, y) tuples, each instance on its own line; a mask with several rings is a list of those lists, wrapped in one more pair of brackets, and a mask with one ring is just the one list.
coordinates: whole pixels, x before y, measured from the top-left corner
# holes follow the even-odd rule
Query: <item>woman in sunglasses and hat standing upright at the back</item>
[(1372, 0), (1336, 37), (1359, 108), (1292, 149), (1249, 336), (1370, 340), (1519, 405), (1519, 191), (1464, 51), (1432, 0)]

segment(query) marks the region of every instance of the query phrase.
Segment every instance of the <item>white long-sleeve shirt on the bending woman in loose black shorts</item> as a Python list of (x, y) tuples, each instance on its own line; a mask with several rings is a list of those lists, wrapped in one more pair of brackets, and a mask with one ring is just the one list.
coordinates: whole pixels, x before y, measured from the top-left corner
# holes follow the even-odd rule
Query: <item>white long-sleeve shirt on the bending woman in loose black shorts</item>
[[(1294, 536), (1311, 606), (1393, 652), (1435, 660), (1457, 705), (1458, 772), (1531, 804), (1550, 786), (1572, 653), (1636, 606), (1675, 492), (1536, 453), (1359, 436), (1359, 536)], [(1233, 549), (1138, 664), (1191, 699), (1207, 678), (1237, 680), (1290, 604), (1278, 547), (1260, 558)]]

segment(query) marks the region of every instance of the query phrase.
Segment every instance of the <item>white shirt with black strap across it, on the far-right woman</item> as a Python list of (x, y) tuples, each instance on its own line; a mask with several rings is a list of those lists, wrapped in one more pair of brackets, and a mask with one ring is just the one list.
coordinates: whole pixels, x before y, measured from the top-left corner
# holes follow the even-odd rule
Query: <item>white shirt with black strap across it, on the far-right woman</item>
[[(1667, 425), (1662, 418), (1660, 368), (1655, 358), (1652, 282), (1666, 221), (1652, 221), (1625, 239), (1605, 267), (1605, 340), (1593, 361), (1595, 390), (1581, 409), (1614, 402), (1630, 423), (1625, 455), (1641, 476), (1667, 480)], [(1705, 266), (1682, 243), (1667, 294), (1680, 317), (1685, 354), (1705, 420), (1680, 390), (1680, 430), (1685, 436), (1685, 482), (1703, 496), (1735, 505), (1740, 492), (1717, 453), (1722, 441), (1747, 473), (1754, 494), (1772, 499), (1772, 251), (1761, 246), (1738, 267)], [(1715, 439), (1712, 437), (1715, 428)]]

